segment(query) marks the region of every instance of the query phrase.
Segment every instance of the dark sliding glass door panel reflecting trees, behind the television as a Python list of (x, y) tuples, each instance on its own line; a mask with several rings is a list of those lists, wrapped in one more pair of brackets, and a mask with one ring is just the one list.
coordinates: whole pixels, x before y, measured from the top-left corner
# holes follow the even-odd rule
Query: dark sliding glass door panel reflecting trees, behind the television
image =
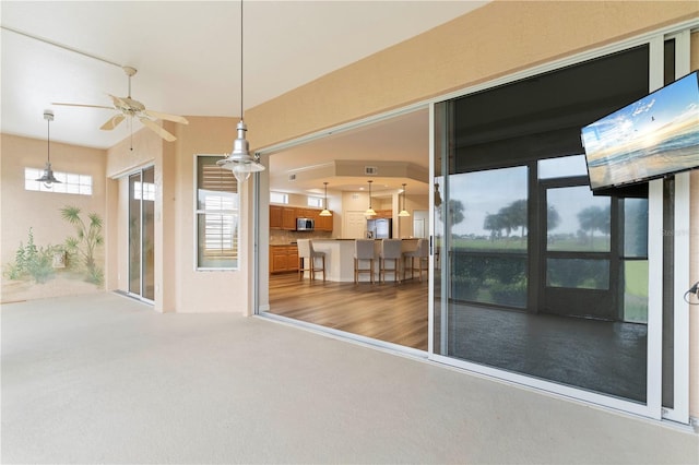
[(648, 183), (593, 194), (580, 128), (649, 67), (639, 46), (435, 105), (436, 359), (648, 415)]

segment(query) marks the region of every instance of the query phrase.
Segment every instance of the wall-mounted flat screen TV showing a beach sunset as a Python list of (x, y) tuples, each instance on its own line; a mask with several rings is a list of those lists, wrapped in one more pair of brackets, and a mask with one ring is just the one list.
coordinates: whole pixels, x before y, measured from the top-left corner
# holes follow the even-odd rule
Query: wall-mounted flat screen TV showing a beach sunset
[(590, 188), (621, 187), (699, 166), (699, 72), (582, 128)]

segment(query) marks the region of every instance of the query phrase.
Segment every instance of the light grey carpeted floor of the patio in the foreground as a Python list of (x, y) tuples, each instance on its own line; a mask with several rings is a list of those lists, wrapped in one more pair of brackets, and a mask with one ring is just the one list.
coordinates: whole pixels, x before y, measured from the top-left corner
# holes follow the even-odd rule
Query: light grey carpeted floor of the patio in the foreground
[(699, 436), (237, 314), (2, 306), (2, 463), (697, 464)]

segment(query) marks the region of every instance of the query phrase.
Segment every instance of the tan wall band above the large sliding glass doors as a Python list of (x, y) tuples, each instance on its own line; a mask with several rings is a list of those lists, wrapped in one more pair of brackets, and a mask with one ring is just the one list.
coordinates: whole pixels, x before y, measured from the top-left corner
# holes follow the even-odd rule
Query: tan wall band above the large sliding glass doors
[(697, 15), (694, 1), (496, 1), (248, 110), (248, 139), (293, 140)]

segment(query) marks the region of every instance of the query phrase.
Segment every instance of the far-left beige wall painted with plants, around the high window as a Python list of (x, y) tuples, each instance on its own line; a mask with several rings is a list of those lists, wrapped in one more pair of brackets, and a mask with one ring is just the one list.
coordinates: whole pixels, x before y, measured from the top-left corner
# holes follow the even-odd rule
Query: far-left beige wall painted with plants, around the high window
[[(54, 128), (54, 132), (57, 130)], [(105, 152), (96, 148), (60, 144), (51, 141), (51, 165), (55, 171), (91, 175), (93, 194), (35, 192), (24, 190), (24, 168), (43, 169), (47, 158), (46, 140), (1, 135), (2, 166), (0, 236), (1, 264), (3, 272), (14, 262), (20, 242), (26, 246), (29, 228), (37, 247), (58, 246), (67, 237), (75, 236), (74, 226), (61, 218), (60, 208), (66, 205), (80, 207), (87, 220), (87, 213), (96, 213), (103, 220), (103, 235), (107, 228)], [(97, 264), (104, 267), (105, 249), (98, 247), (95, 253)], [(11, 281), (3, 273), (2, 301), (14, 301), (103, 290), (104, 285), (86, 283), (83, 276), (60, 271), (44, 284), (32, 281)]]

